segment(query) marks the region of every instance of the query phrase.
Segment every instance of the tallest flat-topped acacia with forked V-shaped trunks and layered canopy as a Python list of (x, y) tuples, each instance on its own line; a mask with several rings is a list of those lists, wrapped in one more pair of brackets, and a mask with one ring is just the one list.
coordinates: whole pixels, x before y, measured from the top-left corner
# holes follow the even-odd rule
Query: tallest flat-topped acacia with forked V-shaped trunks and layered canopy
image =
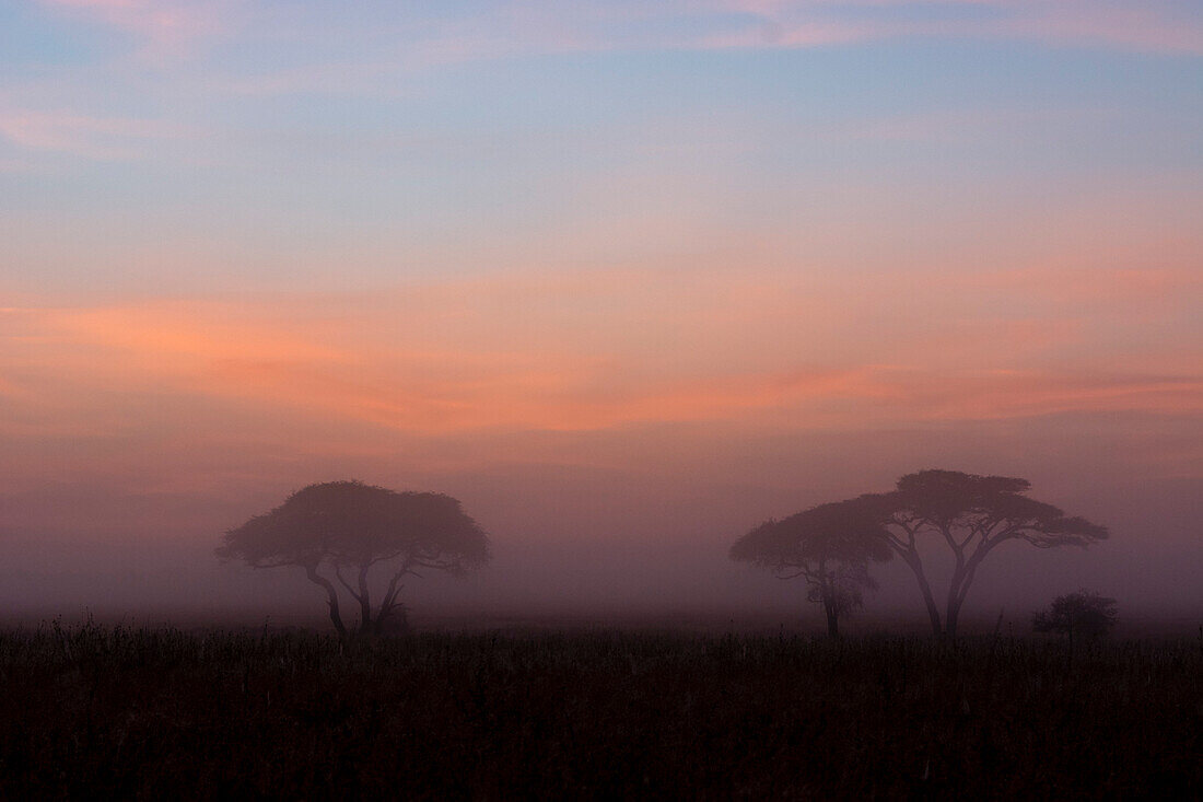
[[(1027, 497), (1030, 488), (1026, 479), (928, 470), (903, 476), (893, 493), (861, 496), (863, 503), (876, 506), (885, 542), (914, 573), (935, 635), (956, 635), (973, 577), (1002, 543), (1086, 547), (1108, 536), (1103, 526)], [(943, 625), (919, 555), (921, 539), (943, 543), (952, 552)]]

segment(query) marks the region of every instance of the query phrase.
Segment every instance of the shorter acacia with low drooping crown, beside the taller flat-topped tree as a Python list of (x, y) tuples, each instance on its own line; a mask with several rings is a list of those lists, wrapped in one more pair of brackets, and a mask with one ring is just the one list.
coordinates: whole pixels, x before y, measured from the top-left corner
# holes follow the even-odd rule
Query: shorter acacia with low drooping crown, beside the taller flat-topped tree
[(891, 554), (873, 508), (853, 500), (819, 505), (768, 520), (731, 546), (730, 558), (770, 568), (781, 579), (806, 580), (807, 601), (823, 606), (828, 635), (840, 637), (840, 617), (864, 603), (877, 585), (869, 562)]

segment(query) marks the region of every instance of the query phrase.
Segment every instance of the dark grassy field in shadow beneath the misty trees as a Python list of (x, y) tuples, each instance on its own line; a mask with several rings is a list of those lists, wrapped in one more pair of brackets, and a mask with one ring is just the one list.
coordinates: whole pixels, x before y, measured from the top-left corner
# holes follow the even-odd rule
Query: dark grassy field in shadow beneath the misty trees
[(1203, 639), (0, 633), (0, 796), (1203, 796)]

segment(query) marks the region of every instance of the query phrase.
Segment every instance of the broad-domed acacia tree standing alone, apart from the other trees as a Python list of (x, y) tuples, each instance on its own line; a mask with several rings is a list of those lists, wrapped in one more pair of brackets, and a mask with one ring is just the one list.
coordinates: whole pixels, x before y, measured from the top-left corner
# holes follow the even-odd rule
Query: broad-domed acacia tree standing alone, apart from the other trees
[[(360, 632), (380, 633), (398, 611), (404, 626), (398, 596), (405, 577), (425, 568), (461, 574), (490, 559), (485, 532), (455, 499), (361, 482), (312, 484), (294, 493), (275, 509), (227, 531), (217, 555), (255, 568), (304, 568), (325, 590), (330, 620), (340, 636), (346, 627), (338, 586), (358, 605)], [(369, 574), (375, 567), (385, 579), (373, 609)]]

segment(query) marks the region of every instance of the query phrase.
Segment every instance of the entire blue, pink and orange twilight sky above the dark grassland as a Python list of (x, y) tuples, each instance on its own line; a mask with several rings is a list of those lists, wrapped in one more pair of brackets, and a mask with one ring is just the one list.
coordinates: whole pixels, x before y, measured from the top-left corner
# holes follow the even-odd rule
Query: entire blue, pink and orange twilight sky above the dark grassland
[(1199, 220), (1193, 0), (0, 0), (0, 603), (315, 603), (212, 549), (360, 478), (417, 609), (800, 615), (729, 543), (941, 467), (1112, 530), (967, 615), (1196, 614)]

